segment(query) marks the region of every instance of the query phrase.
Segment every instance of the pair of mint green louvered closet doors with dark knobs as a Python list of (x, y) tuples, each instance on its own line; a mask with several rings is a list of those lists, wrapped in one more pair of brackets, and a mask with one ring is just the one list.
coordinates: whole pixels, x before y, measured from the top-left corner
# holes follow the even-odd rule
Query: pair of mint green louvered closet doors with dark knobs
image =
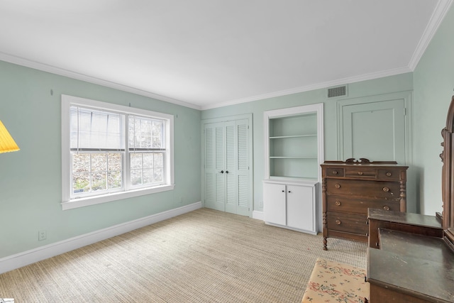
[(249, 215), (248, 119), (204, 126), (205, 206)]

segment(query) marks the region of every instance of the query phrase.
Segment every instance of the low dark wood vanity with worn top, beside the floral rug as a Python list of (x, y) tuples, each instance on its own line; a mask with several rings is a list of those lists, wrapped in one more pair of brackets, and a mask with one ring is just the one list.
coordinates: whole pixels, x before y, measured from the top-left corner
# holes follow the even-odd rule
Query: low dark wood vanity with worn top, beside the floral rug
[(441, 228), (436, 217), (399, 213), (381, 221), (372, 209), (369, 215), (380, 247), (367, 248), (370, 302), (454, 302), (454, 250), (443, 236), (426, 235)]

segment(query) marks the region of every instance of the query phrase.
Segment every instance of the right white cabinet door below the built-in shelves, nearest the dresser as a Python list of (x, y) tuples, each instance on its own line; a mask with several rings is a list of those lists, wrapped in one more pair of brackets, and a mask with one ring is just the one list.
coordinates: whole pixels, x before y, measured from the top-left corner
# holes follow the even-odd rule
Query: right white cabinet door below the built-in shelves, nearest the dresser
[(287, 185), (287, 226), (314, 231), (314, 187)]

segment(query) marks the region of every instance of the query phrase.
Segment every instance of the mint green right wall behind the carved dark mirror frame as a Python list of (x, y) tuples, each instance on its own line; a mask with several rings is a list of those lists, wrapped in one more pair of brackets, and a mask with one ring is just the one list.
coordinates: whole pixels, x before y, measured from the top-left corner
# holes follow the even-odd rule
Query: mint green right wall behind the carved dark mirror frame
[(441, 129), (454, 92), (454, 6), (414, 70), (415, 165), (419, 170), (421, 213), (442, 211)]

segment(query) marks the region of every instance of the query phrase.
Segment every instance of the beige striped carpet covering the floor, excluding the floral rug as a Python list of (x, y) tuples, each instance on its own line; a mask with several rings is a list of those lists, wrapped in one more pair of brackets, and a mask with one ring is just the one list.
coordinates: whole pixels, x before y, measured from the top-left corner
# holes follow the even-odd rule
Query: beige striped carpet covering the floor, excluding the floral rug
[(366, 244), (198, 209), (0, 275), (21, 302), (301, 302), (318, 257), (366, 267)]

